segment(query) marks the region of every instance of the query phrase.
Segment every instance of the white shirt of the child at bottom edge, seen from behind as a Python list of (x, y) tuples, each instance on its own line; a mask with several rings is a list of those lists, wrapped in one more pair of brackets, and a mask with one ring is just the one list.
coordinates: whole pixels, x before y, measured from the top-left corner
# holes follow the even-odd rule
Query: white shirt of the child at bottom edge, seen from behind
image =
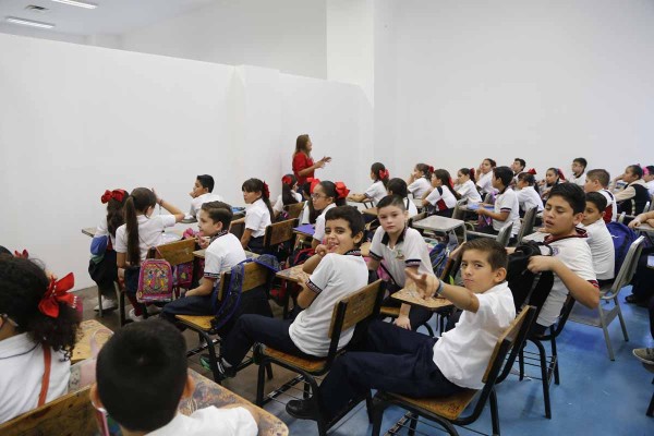
[(190, 416), (178, 413), (171, 422), (147, 436), (256, 436), (258, 428), (252, 414), (244, 408), (199, 409)]

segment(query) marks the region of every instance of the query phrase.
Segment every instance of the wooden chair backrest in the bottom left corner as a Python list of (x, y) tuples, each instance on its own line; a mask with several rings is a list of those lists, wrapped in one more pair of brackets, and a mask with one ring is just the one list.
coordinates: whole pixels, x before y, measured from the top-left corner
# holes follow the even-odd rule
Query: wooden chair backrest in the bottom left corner
[(98, 432), (95, 409), (90, 404), (90, 386), (68, 393), (40, 408), (0, 424), (2, 436), (90, 436)]

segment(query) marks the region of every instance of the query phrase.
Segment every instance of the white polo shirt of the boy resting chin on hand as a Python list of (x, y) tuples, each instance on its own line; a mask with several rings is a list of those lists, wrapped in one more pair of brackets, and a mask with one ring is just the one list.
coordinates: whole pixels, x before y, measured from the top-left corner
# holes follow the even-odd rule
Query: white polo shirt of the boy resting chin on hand
[[(330, 342), (327, 334), (334, 306), (366, 286), (367, 277), (367, 266), (361, 252), (353, 250), (344, 255), (326, 254), (306, 281), (308, 289), (317, 296), (289, 326), (293, 343), (307, 354), (318, 358), (327, 355)], [(338, 348), (347, 346), (353, 334), (354, 327), (341, 331)]]

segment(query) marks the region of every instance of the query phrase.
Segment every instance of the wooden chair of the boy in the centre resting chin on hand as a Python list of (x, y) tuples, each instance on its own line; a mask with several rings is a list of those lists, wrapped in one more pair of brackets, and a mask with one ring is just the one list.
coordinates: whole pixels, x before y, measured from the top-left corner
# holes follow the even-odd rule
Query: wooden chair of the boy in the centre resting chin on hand
[[(326, 374), (331, 368), (334, 360), (344, 351), (344, 349), (338, 350), (338, 341), (340, 339), (341, 331), (344, 331), (351, 327), (355, 327), (360, 323), (371, 320), (377, 316), (383, 296), (383, 288), (380, 284), (382, 280), (377, 280), (362, 288), (355, 293), (342, 299), (337, 305), (334, 306), (331, 325), (328, 332), (328, 338), (330, 339), (329, 352), (324, 359), (308, 360), (293, 354), (283, 353), (281, 351), (265, 347), (264, 344), (257, 344), (254, 352), (255, 361), (259, 365), (256, 388), (256, 404), (258, 407), (263, 407), (264, 404), (265, 365), (274, 363), (289, 371), (298, 373), (301, 377), (296, 377), (295, 383), (300, 380), (304, 382), (305, 398), (307, 398), (311, 388), (311, 392), (313, 393), (311, 396), (311, 400), (316, 403), (316, 410), (322, 410), (320, 399), (317, 393), (318, 384), (315, 377)], [(356, 337), (356, 334), (354, 337)], [(330, 423), (325, 422), (322, 415), (316, 416), (318, 423), (318, 434), (322, 436), (326, 435), (330, 424), (338, 422), (341, 416), (337, 416)]]

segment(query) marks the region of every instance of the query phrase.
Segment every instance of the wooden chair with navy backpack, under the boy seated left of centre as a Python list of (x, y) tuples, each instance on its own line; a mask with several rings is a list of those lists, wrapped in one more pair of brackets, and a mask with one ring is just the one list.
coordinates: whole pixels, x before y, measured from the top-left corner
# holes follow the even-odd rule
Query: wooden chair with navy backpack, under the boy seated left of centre
[[(220, 277), (220, 288), (217, 292), (218, 301), (222, 301), (222, 295), (226, 293), (229, 287), (229, 282), (231, 279), (231, 271), (223, 272)], [(270, 284), (272, 282), (272, 278), (275, 274), (269, 268), (257, 264), (256, 262), (251, 262), (245, 264), (244, 266), (244, 276), (243, 276), (243, 284), (241, 287), (241, 292), (249, 292), (258, 287), (266, 287), (266, 293), (269, 291)], [(218, 371), (218, 356), (216, 354), (215, 344), (220, 341), (217, 339), (214, 341), (211, 336), (218, 335), (218, 329), (214, 328), (211, 325), (211, 320), (216, 318), (215, 315), (175, 315), (175, 318), (186, 328), (190, 328), (193, 331), (196, 331), (201, 338), (201, 343), (204, 340), (208, 346), (209, 350), (209, 366), (211, 368), (211, 373), (214, 374), (214, 380), (216, 383), (220, 383), (221, 375)], [(225, 320), (225, 319), (223, 319)], [(197, 354), (205, 347), (198, 347), (195, 350), (191, 350), (186, 353), (187, 356)], [(252, 364), (252, 359), (244, 360), (238, 367), (237, 371), (241, 371), (244, 367)]]

